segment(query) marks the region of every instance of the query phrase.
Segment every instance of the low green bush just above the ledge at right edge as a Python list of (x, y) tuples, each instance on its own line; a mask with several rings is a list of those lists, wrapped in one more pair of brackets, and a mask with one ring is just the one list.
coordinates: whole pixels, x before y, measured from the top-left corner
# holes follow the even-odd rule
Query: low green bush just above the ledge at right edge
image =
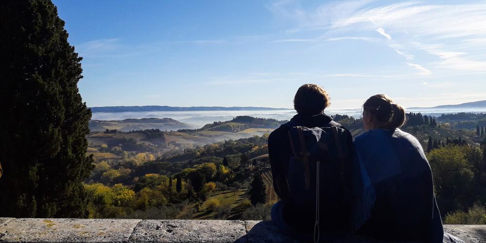
[(446, 225), (485, 225), (486, 208), (474, 204), (468, 212), (454, 211), (446, 215), (444, 219)]

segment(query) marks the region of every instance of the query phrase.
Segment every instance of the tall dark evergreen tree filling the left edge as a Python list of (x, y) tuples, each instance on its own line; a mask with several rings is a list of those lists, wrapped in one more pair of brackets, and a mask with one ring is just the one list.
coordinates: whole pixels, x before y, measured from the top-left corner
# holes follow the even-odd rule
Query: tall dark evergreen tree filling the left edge
[(0, 33), (0, 212), (87, 217), (91, 111), (64, 21), (51, 0), (3, 0)]

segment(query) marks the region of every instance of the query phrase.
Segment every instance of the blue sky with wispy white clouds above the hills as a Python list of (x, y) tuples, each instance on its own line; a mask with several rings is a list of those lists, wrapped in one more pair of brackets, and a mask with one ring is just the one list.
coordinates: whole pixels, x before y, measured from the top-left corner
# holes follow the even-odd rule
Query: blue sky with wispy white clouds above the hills
[(486, 100), (486, 1), (53, 0), (88, 106), (333, 109)]

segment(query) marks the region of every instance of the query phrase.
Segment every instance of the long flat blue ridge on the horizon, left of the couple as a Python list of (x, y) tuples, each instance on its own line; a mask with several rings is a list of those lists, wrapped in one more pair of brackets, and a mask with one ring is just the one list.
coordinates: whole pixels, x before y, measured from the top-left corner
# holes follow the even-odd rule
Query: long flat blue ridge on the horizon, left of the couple
[(242, 106), (191, 106), (191, 107), (177, 107), (166, 105), (145, 105), (145, 106), (101, 106), (90, 107), (91, 112), (135, 112), (135, 111), (214, 111), (214, 110), (279, 110), (285, 108), (270, 108), (270, 107), (242, 107)]

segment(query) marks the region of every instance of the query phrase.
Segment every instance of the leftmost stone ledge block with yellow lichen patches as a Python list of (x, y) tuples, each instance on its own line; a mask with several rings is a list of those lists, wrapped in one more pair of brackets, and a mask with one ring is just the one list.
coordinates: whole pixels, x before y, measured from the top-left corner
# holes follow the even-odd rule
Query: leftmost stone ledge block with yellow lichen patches
[(0, 225), (0, 242), (128, 242), (139, 221), (14, 219)]

